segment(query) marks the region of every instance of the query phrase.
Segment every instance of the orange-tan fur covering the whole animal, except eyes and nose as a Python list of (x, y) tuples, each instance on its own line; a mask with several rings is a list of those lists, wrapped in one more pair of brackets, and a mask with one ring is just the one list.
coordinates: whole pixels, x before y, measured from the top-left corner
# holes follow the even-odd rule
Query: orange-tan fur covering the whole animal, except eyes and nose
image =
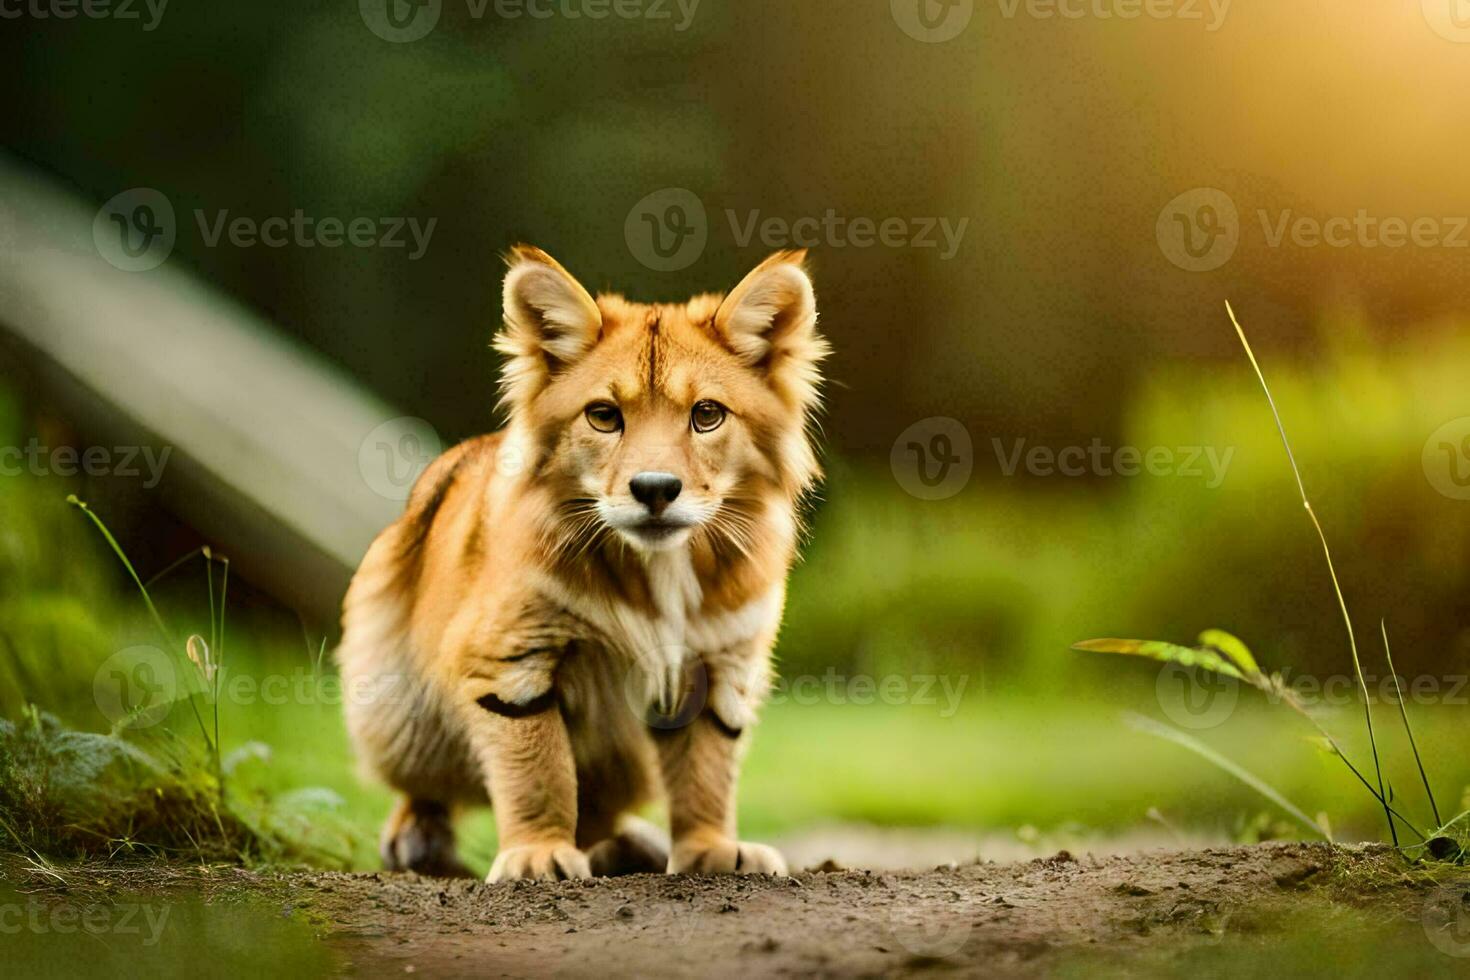
[[(535, 248), (509, 264), (510, 422), (435, 460), (344, 605), (348, 727), (403, 795), (384, 860), (457, 870), (450, 814), (490, 801), (491, 880), (663, 870), (629, 821), (662, 795), (667, 870), (784, 873), (736, 840), (734, 796), (817, 479), (804, 254), (657, 306), (594, 300)], [(728, 414), (695, 430), (707, 400)], [(682, 482), (666, 511), (635, 500), (639, 473)]]

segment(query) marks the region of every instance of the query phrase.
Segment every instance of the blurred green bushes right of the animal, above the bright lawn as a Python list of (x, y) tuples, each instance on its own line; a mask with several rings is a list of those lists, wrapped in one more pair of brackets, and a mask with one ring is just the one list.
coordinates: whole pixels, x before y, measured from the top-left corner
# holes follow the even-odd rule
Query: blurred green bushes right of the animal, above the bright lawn
[[(1223, 310), (1220, 323), (1229, 329)], [(1446, 325), (1432, 342), (1382, 347), (1345, 316), (1333, 323), (1338, 339), (1323, 332), (1314, 364), (1264, 369), (1348, 604), (1361, 636), (1388, 620), (1402, 673), (1463, 674), (1467, 504), (1430, 485), (1421, 450), (1467, 411), (1470, 339)], [(792, 579), (785, 666), (969, 666), (1033, 683), (1064, 670), (1105, 685), (1107, 669), (1076, 663), (1073, 642), (1189, 642), (1220, 624), (1288, 676), (1351, 671), (1320, 545), (1244, 356), (1233, 367), (1157, 370), (1126, 419), (1108, 445), (1230, 453), (1225, 479), (1005, 479), (978, 463), (963, 492), (920, 501), (876, 466), (835, 460)], [(972, 436), (978, 458), (1013, 451), (1008, 435)], [(1367, 663), (1386, 676), (1379, 655)]]

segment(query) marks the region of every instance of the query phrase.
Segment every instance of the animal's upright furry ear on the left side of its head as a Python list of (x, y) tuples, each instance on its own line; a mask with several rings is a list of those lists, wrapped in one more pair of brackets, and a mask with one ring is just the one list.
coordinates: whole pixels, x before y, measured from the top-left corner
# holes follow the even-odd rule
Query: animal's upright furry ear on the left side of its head
[(603, 314), (582, 284), (539, 248), (516, 245), (507, 264), (506, 328), (495, 336), (495, 350), (509, 359), (501, 386), (506, 401), (516, 406), (592, 350)]

